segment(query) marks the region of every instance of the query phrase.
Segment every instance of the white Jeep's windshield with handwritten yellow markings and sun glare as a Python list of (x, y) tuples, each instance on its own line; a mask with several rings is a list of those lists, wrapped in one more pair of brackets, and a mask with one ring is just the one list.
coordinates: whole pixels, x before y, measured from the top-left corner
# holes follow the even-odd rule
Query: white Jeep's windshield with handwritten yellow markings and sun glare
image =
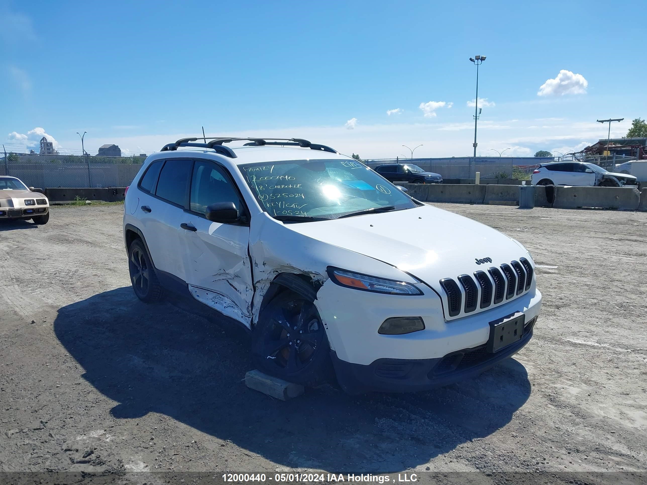
[(352, 160), (289, 160), (239, 169), (263, 210), (279, 219), (337, 219), (353, 212), (417, 207), (397, 187)]

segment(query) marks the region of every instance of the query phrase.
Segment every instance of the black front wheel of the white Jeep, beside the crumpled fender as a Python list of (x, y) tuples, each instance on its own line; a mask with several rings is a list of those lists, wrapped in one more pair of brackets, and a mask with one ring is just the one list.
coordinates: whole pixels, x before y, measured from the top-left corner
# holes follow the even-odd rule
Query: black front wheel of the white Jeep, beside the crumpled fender
[[(298, 332), (298, 333), (297, 333)], [(310, 387), (333, 376), (330, 345), (314, 303), (284, 290), (261, 312), (252, 332), (252, 361), (266, 374)]]

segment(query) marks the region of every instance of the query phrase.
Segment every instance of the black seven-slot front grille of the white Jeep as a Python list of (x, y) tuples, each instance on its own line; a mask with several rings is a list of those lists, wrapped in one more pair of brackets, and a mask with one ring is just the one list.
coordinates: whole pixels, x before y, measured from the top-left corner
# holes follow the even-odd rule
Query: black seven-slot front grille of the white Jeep
[(463, 287), (463, 292), (454, 279), (443, 278), (440, 284), (447, 296), (447, 315), (455, 317), (461, 314), (463, 294), (465, 294), (463, 312), (466, 314), (476, 311), (476, 308), (483, 309), (491, 305), (499, 305), (504, 300), (519, 296), (530, 289), (532, 275), (532, 264), (521, 257), (519, 261), (503, 263), (499, 268), (492, 266), (487, 272), (475, 271), (474, 277), (468, 274), (459, 275), (457, 280)]

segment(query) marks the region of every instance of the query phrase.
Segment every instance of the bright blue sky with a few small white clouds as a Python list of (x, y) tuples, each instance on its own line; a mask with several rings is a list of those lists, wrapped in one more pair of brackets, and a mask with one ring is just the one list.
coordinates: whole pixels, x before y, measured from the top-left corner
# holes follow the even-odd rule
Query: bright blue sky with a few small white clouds
[(647, 29), (625, 15), (637, 1), (615, 14), (595, 1), (232, 4), (0, 0), (0, 140), (46, 133), (71, 152), (87, 131), (91, 153), (150, 153), (204, 125), (366, 158), (403, 144), (467, 156), (475, 54), (479, 155), (581, 148), (606, 136), (598, 118), (625, 118), (622, 136), (647, 117)]

